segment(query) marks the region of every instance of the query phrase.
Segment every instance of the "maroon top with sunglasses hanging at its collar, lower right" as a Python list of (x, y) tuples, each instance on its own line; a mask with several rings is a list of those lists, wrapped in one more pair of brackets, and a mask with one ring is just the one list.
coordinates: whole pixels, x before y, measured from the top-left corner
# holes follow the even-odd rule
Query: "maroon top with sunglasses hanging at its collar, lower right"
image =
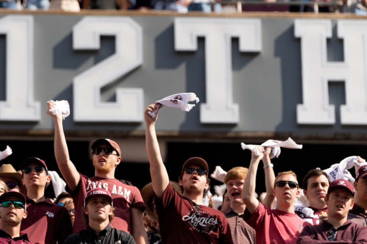
[[(331, 235), (330, 230), (336, 231), (335, 240), (329, 241), (328, 236)], [(350, 220), (344, 223), (344, 225), (335, 229), (331, 224), (326, 221), (321, 221), (320, 225), (306, 226), (299, 238), (297, 244), (323, 244), (323, 243), (354, 243), (365, 244), (367, 243), (367, 226), (358, 225)]]

